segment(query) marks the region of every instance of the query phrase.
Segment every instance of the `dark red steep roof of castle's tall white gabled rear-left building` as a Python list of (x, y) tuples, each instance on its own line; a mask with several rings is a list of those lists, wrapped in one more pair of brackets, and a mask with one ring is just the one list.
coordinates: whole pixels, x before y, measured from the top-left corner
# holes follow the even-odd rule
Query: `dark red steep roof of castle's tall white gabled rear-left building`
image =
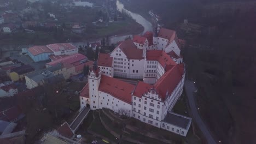
[(118, 47), (129, 59), (143, 59), (143, 50), (137, 49), (136, 45), (131, 39), (123, 41), (120, 45), (118, 45)]

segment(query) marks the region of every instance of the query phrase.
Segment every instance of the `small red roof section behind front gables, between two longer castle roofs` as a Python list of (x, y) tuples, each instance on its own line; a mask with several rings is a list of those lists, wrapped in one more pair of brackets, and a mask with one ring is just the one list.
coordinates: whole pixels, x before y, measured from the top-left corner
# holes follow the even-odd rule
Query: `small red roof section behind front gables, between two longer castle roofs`
[(150, 91), (150, 89), (152, 88), (153, 86), (150, 85), (149, 83), (139, 81), (135, 87), (135, 91), (133, 92), (133, 95), (141, 98), (144, 93)]

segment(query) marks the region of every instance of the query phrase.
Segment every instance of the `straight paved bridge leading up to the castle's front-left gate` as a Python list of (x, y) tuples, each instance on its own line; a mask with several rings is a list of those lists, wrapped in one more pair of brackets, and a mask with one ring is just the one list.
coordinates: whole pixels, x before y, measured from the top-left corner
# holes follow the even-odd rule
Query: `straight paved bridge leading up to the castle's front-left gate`
[(71, 123), (70, 128), (72, 130), (77, 130), (78, 126), (84, 121), (84, 118), (86, 115), (89, 113), (90, 107), (85, 107), (79, 114), (78, 116), (74, 119), (74, 121)]

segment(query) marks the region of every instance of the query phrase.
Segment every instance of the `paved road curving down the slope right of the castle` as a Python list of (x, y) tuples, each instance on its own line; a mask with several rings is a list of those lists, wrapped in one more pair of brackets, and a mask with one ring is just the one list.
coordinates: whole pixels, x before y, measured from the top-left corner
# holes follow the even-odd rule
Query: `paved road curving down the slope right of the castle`
[(192, 117), (193, 120), (196, 122), (196, 124), (198, 125), (198, 127), (200, 128), (200, 130), (202, 131), (203, 135), (205, 135), (205, 138), (207, 140), (207, 142), (209, 144), (215, 144), (217, 143), (214, 139), (213, 136), (211, 135), (210, 131), (207, 129), (205, 123), (202, 121), (197, 107), (195, 105), (195, 99), (194, 99), (194, 95), (193, 92), (196, 90), (194, 82), (193, 81), (189, 81), (189, 80), (185, 80), (185, 90), (186, 90), (186, 94), (189, 100), (189, 106), (192, 112)]

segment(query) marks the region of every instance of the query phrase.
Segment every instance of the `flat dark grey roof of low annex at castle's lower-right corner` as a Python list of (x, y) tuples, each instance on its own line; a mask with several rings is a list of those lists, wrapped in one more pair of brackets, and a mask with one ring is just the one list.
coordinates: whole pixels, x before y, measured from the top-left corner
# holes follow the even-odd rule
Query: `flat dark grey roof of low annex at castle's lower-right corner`
[(164, 122), (176, 125), (183, 129), (189, 129), (191, 118), (178, 115), (177, 113), (168, 112), (165, 116)]

